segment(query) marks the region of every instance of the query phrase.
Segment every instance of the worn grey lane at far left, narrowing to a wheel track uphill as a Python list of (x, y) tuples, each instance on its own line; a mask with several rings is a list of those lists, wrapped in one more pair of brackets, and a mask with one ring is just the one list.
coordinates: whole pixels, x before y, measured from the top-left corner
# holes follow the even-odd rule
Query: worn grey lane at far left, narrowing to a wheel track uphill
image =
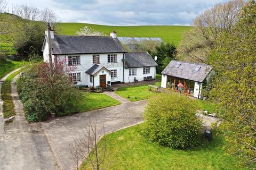
[(11, 85), (17, 114), (12, 123), (0, 122), (0, 169), (57, 169), (42, 128), (39, 123), (27, 123), (16, 83)]

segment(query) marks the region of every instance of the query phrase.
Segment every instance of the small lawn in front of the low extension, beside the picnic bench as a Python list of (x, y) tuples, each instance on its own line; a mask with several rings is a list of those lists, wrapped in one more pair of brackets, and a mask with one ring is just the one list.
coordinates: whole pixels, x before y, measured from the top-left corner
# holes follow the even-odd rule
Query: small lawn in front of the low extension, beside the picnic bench
[[(159, 82), (158, 82), (159, 83)], [(158, 85), (156, 85), (158, 86)], [(140, 86), (130, 86), (130, 87), (119, 87), (115, 94), (130, 100), (130, 101), (138, 101), (143, 99), (148, 99), (157, 95), (153, 91), (148, 91), (148, 85), (140, 85)]]

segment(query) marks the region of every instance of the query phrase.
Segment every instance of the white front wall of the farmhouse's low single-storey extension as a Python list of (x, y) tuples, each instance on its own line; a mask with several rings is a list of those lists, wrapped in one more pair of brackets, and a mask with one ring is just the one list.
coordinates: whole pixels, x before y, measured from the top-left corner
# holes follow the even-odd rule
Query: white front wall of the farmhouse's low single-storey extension
[(129, 83), (133, 82), (134, 78), (139, 79), (139, 81), (143, 81), (144, 77), (151, 76), (153, 79), (155, 79), (155, 66), (150, 67), (150, 73), (149, 74), (143, 74), (143, 67), (138, 67), (137, 69), (137, 75), (129, 76), (129, 69), (124, 69), (124, 82)]

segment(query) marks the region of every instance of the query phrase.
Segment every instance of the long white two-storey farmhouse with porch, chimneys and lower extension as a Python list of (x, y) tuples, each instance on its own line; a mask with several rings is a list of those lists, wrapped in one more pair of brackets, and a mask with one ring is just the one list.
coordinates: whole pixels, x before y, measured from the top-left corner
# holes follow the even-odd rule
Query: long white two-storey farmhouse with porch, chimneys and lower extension
[[(155, 79), (156, 62), (147, 52), (127, 53), (116, 32), (107, 36), (64, 36), (51, 31), (52, 61), (66, 61), (74, 67), (70, 78), (85, 86)], [(47, 32), (42, 47), (44, 61), (49, 61)]]

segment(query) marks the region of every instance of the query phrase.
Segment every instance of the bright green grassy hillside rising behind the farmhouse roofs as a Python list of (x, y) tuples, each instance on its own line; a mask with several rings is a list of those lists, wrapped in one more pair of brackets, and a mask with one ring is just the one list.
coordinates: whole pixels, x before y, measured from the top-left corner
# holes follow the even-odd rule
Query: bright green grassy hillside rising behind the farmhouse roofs
[(147, 25), (147, 26), (108, 26), (86, 23), (59, 23), (61, 35), (75, 35), (79, 29), (89, 26), (90, 28), (104, 32), (106, 35), (113, 30), (120, 37), (160, 37), (166, 43), (179, 44), (183, 31), (190, 29), (189, 26), (174, 25)]

